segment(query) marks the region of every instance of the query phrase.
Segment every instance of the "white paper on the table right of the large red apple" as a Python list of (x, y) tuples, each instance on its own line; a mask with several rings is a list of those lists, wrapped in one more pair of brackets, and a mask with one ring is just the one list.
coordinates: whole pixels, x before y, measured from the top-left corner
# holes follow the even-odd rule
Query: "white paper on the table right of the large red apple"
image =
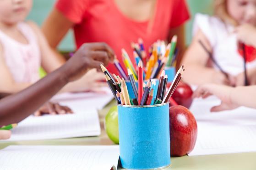
[(189, 156), (256, 151), (256, 109), (240, 107), (210, 113), (218, 99), (196, 99), (191, 112), (197, 121), (197, 140)]

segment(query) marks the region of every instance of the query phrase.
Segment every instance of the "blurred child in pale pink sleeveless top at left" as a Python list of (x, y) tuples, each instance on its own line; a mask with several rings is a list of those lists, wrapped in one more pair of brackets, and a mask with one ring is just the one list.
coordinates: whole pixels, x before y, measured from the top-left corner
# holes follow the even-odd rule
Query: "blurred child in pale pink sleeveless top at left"
[[(46, 72), (52, 72), (65, 63), (62, 57), (52, 57), (57, 54), (51, 50), (38, 26), (24, 21), (31, 7), (32, 0), (0, 0), (1, 93), (16, 93), (36, 82), (40, 66)], [(97, 82), (103, 78), (103, 74), (94, 69), (65, 86), (62, 92), (97, 88), (105, 85)], [(65, 110), (60, 110), (63, 111), (65, 113)]]

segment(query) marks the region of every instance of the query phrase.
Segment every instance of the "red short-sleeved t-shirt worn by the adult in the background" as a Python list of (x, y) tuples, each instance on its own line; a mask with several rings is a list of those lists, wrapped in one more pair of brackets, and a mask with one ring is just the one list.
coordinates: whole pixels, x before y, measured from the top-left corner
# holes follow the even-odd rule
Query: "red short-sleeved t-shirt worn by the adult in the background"
[[(142, 38), (146, 51), (153, 42), (167, 40), (169, 30), (182, 25), (189, 19), (185, 0), (157, 0), (157, 10), (151, 32), (147, 32), (148, 21), (133, 21), (126, 17), (114, 0), (58, 0), (55, 7), (75, 23), (76, 47), (85, 42), (106, 42), (121, 60), (124, 48), (133, 63), (131, 42)], [(124, 67), (123, 62), (121, 62)], [(124, 67), (125, 68), (125, 67)], [(114, 65), (108, 69), (118, 73)]]

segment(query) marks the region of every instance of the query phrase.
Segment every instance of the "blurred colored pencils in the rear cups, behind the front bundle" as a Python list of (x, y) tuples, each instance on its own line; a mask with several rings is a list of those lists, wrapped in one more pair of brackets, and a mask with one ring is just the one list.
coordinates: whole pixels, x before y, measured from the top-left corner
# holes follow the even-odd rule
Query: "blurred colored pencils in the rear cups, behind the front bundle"
[[(150, 47), (148, 56), (145, 51), (143, 40), (141, 38), (138, 39), (138, 43), (131, 43), (131, 47), (133, 49), (133, 57), (136, 61), (136, 65), (142, 61), (142, 74), (144, 79), (148, 80), (150, 78), (158, 78), (165, 66), (171, 67), (175, 65), (176, 57), (178, 54), (176, 43), (177, 36), (173, 36), (171, 42), (168, 45), (166, 45), (164, 41), (158, 40)], [(131, 70), (132, 76), (134, 77), (135, 81), (137, 81), (138, 68), (134, 67), (131, 62), (131, 58), (125, 49), (122, 49), (122, 60), (126, 69), (129, 68)], [(121, 66), (117, 58), (114, 60), (114, 65), (120, 72), (120, 75), (124, 77), (125, 80), (129, 80), (128, 74), (125, 73), (125, 69)]]

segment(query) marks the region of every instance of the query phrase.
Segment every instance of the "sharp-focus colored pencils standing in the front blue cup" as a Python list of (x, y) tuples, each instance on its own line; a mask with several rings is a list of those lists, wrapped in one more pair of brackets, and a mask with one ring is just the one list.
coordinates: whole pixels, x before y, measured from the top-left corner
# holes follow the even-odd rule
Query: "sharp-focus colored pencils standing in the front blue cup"
[(134, 93), (135, 96), (135, 98), (131, 98), (124, 77), (121, 78), (116, 75), (112, 76), (103, 65), (101, 65), (101, 68), (105, 74), (106, 81), (114, 95), (116, 102), (122, 105), (153, 105), (169, 102), (169, 98), (174, 93), (174, 90), (179, 84), (185, 71), (184, 66), (180, 67), (179, 71), (174, 77), (174, 81), (166, 93), (168, 77), (165, 75), (164, 70), (161, 72), (159, 77), (158, 87), (156, 87), (155, 80), (151, 80), (151, 78), (147, 81), (147, 84), (144, 85), (143, 64), (142, 61), (139, 61), (136, 72), (138, 86), (136, 86), (135, 83), (134, 72), (132, 72), (130, 68), (127, 69), (128, 79), (132, 86), (132, 93)]

